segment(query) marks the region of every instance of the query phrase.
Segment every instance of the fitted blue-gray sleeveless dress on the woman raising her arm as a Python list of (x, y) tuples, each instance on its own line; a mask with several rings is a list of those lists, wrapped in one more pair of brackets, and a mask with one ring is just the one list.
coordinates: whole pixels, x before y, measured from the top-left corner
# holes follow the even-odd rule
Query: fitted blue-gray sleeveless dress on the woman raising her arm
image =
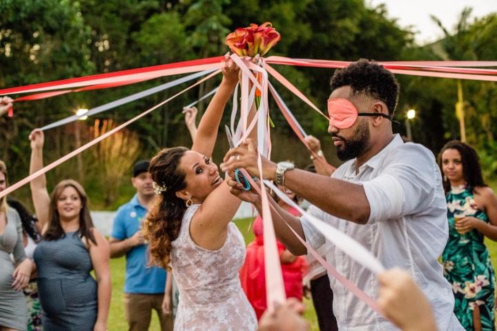
[(91, 331), (97, 321), (97, 282), (79, 232), (38, 243), (35, 249), (43, 330)]

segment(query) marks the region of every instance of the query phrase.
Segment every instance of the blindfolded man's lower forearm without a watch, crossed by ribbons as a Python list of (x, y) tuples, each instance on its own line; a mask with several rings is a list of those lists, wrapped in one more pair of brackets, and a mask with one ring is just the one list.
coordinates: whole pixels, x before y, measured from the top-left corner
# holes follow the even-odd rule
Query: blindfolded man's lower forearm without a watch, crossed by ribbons
[[(304, 255), (307, 253), (305, 246), (300, 242), (300, 240), (295, 237), (295, 234), (290, 230), (289, 226), (293, 228), (298, 235), (305, 239), (304, 230), (302, 230), (302, 224), (298, 217), (293, 216), (289, 212), (283, 210), (275, 201), (269, 198), (271, 217), (273, 218), (273, 226), (275, 229), (276, 237), (281, 241), (290, 252), (295, 255)], [(255, 208), (257, 212), (262, 217), (262, 201), (255, 203)], [(286, 225), (288, 223), (288, 225)]]

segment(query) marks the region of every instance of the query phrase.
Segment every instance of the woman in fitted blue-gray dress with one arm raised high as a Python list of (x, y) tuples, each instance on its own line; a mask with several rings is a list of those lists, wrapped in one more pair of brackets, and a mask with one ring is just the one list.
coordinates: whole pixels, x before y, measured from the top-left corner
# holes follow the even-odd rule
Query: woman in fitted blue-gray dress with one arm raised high
[[(43, 132), (31, 132), (30, 141), (33, 173), (43, 167)], [(105, 331), (111, 291), (109, 245), (93, 227), (84, 188), (77, 181), (61, 181), (50, 197), (44, 175), (30, 187), (37, 217), (47, 224), (34, 254), (43, 330)]]

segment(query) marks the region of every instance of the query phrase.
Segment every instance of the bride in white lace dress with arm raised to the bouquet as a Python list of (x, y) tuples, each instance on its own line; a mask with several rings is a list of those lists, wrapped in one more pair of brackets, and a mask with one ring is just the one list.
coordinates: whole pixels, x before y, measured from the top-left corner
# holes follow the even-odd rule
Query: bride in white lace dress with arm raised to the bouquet
[(159, 197), (144, 223), (145, 237), (152, 260), (173, 270), (179, 289), (176, 331), (257, 329), (238, 278), (245, 243), (231, 223), (241, 201), (211, 161), (217, 128), (238, 80), (231, 60), (226, 59), (222, 72), (191, 150), (162, 150), (148, 169)]

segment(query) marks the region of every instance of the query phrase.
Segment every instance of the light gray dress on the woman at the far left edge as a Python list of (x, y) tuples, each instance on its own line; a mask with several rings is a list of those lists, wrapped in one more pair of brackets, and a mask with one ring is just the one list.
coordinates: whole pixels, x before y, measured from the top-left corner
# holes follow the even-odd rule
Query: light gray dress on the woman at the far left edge
[[(0, 325), (15, 330), (26, 330), (28, 310), (22, 291), (12, 288), (12, 272), (24, 259), (21, 218), (16, 210), (7, 207), (6, 228), (0, 234)], [(10, 254), (15, 261), (12, 263)]]

